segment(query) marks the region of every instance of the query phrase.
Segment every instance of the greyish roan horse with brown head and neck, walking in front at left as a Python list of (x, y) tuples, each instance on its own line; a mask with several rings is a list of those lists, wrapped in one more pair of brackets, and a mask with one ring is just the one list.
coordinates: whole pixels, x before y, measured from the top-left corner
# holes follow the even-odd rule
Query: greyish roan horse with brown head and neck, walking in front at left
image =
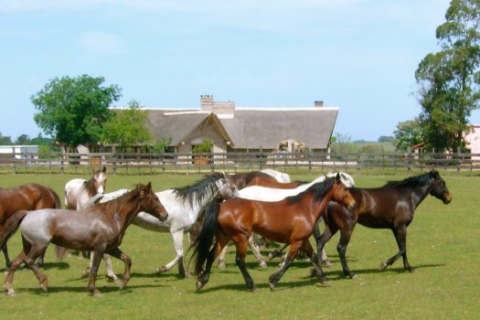
[(152, 191), (152, 185), (138, 185), (132, 191), (108, 203), (99, 204), (83, 210), (40, 209), (20, 210), (8, 220), (5, 229), (0, 232), (0, 244), (16, 229), (22, 231), (23, 251), (12, 262), (5, 278), (5, 293), (14, 295), (12, 287), (14, 273), (25, 262), (28, 269), (37, 276), (40, 288), (48, 291), (48, 280), (33, 262), (47, 250), (48, 243), (79, 251), (93, 251), (93, 267), (87, 286), (89, 293), (100, 295), (95, 279), (101, 256), (108, 252), (125, 264), (122, 279), (117, 281), (123, 289), (131, 278), (132, 261), (120, 250), (123, 235), (135, 216), (148, 212), (155, 219), (165, 220), (168, 215), (162, 203)]

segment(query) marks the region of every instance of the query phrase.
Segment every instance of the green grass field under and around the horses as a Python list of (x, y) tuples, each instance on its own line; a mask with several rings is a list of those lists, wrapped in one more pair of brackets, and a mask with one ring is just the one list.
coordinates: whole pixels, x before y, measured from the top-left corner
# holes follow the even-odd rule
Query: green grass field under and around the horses
[[(63, 186), (73, 177), (78, 176), (0, 176), (0, 186), (37, 182), (53, 187), (62, 197)], [(293, 176), (302, 180), (312, 177)], [(357, 187), (377, 187), (391, 179), (354, 177)], [(156, 190), (163, 190), (186, 186), (199, 178), (108, 176), (107, 190), (149, 180)], [(260, 293), (250, 293), (234, 263), (234, 250), (230, 250), (227, 269), (214, 269), (210, 282), (196, 293), (195, 279), (180, 279), (176, 270), (154, 273), (156, 267), (175, 256), (170, 235), (132, 226), (122, 245), (133, 261), (133, 278), (125, 290), (120, 291), (106, 280), (101, 264), (97, 285), (103, 294), (91, 297), (86, 293), (87, 280), (80, 279), (87, 261), (76, 257), (57, 261), (49, 248), (45, 266), (48, 293), (38, 288), (32, 272), (16, 272), (16, 297), (0, 296), (0, 319), (474, 319), (479, 315), (480, 302), (480, 178), (444, 179), (453, 202), (445, 206), (427, 197), (409, 227), (409, 260), (418, 268), (414, 273), (403, 272), (401, 261), (379, 272), (379, 262), (398, 251), (396, 242), (389, 230), (357, 226), (347, 249), (350, 269), (358, 274), (356, 279), (347, 280), (341, 275), (336, 235), (325, 248), (334, 262), (333, 267), (325, 269), (331, 280), (329, 287), (307, 277), (307, 262), (295, 261), (276, 291), (271, 292), (268, 277), (276, 270), (277, 261), (270, 262), (267, 270), (260, 270), (249, 254), (249, 271), (261, 289)], [(9, 251), (12, 258), (20, 251), (19, 234), (9, 241)], [(0, 257), (4, 265), (3, 255)], [(117, 273), (123, 272), (120, 261), (114, 261), (114, 268)]]

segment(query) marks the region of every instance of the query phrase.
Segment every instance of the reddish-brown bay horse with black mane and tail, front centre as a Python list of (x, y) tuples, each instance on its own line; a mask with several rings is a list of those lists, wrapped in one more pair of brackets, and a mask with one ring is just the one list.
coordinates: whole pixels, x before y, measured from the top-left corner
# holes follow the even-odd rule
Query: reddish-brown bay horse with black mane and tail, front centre
[[(235, 243), (237, 249), (235, 262), (240, 268), (247, 288), (251, 292), (258, 290), (245, 266), (245, 255), (251, 232), (290, 244), (283, 267), (269, 278), (269, 286), (272, 290), (290, 267), (300, 249), (307, 252), (315, 266), (318, 279), (323, 282), (325, 275), (317, 264), (309, 237), (314, 231), (316, 220), (320, 218), (330, 200), (338, 201), (349, 209), (355, 206), (354, 198), (340, 180), (339, 175), (327, 178), (324, 182), (316, 183), (304, 192), (281, 201), (267, 202), (234, 197), (208, 206), (203, 227), (191, 246), (192, 259), (195, 259), (194, 270), (198, 275), (197, 290), (208, 283), (213, 261), (230, 240)], [(210, 250), (214, 238), (216, 241)], [(205, 269), (203, 269), (204, 264), (206, 264)]]

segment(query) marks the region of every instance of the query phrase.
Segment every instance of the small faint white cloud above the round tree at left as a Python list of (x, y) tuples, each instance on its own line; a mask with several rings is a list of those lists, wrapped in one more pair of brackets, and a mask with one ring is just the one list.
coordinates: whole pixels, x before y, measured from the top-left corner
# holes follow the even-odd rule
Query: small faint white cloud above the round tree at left
[(79, 47), (91, 55), (112, 55), (124, 52), (123, 39), (112, 33), (87, 32), (78, 42)]

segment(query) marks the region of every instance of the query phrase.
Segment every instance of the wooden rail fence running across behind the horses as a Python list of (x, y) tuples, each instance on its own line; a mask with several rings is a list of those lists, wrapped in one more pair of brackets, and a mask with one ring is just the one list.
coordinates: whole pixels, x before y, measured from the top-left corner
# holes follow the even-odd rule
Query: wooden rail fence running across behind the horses
[(246, 172), (275, 168), (298, 171), (361, 171), (397, 174), (434, 167), (480, 176), (480, 154), (329, 154), (329, 153), (202, 153), (202, 154), (32, 154), (0, 155), (0, 174), (78, 174), (105, 165), (115, 175)]

